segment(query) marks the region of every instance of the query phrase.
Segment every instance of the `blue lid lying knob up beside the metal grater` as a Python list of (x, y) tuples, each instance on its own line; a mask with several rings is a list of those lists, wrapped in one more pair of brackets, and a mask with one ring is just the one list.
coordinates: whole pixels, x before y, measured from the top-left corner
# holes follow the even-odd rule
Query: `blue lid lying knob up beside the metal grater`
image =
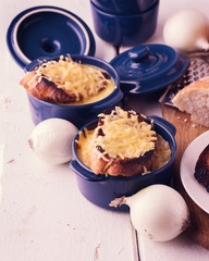
[(187, 53), (165, 45), (136, 46), (110, 64), (115, 69), (125, 95), (157, 91), (179, 79), (188, 67)]

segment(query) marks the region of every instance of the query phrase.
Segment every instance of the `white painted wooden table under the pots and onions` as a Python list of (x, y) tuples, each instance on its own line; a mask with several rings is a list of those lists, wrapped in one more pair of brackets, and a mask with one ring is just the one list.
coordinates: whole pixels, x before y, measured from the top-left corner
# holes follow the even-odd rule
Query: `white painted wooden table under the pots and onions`
[[(17, 13), (42, 4), (74, 12), (94, 32), (88, 0), (0, 2), (0, 260), (208, 261), (209, 251), (186, 234), (163, 244), (137, 236), (128, 213), (100, 209), (81, 195), (69, 164), (47, 165), (29, 149), (27, 139), (34, 124), (25, 90), (19, 84), (24, 72), (8, 51), (5, 34)], [(209, 15), (208, 0), (160, 0), (158, 27), (148, 44), (163, 44), (167, 17), (188, 7)], [(95, 38), (96, 57), (110, 61), (114, 48), (96, 34)], [(147, 115), (161, 115), (158, 98), (137, 97), (128, 103)]]

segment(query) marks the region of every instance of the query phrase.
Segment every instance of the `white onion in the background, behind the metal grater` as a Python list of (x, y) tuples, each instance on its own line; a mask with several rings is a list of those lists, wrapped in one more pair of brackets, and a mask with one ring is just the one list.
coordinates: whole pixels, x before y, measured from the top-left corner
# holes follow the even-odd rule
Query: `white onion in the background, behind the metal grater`
[(163, 38), (184, 51), (209, 50), (209, 20), (195, 9), (180, 10), (165, 21)]

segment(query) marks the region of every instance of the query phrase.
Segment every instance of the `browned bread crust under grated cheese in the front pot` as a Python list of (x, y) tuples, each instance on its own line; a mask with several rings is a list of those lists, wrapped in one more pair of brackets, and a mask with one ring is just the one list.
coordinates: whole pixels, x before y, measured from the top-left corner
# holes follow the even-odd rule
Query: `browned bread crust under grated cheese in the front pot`
[[(147, 122), (148, 121), (143, 117), (140, 114), (138, 114), (138, 122)], [(102, 120), (99, 119), (98, 126), (101, 126)], [(95, 135), (95, 139), (98, 135)], [(94, 141), (93, 141), (94, 144)], [(102, 148), (97, 148), (98, 150), (102, 150)], [(153, 161), (155, 161), (155, 151), (153, 150), (147, 151), (144, 156), (140, 156), (138, 158), (132, 158), (132, 159), (121, 159), (120, 157), (116, 157), (116, 159), (111, 158), (108, 153), (106, 153), (107, 161), (103, 160), (101, 157), (98, 156), (96, 150), (93, 149), (91, 156), (90, 156), (90, 169), (94, 171), (95, 174), (106, 174), (111, 176), (136, 176), (136, 175), (143, 175), (147, 172), (152, 171), (153, 167)]]

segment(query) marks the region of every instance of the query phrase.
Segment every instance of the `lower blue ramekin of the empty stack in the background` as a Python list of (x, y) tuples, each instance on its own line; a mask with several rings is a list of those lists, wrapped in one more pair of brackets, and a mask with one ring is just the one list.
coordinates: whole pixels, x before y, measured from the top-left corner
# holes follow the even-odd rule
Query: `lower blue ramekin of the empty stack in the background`
[(145, 12), (112, 14), (90, 1), (95, 32), (114, 46), (136, 46), (149, 39), (157, 27), (159, 0)]

